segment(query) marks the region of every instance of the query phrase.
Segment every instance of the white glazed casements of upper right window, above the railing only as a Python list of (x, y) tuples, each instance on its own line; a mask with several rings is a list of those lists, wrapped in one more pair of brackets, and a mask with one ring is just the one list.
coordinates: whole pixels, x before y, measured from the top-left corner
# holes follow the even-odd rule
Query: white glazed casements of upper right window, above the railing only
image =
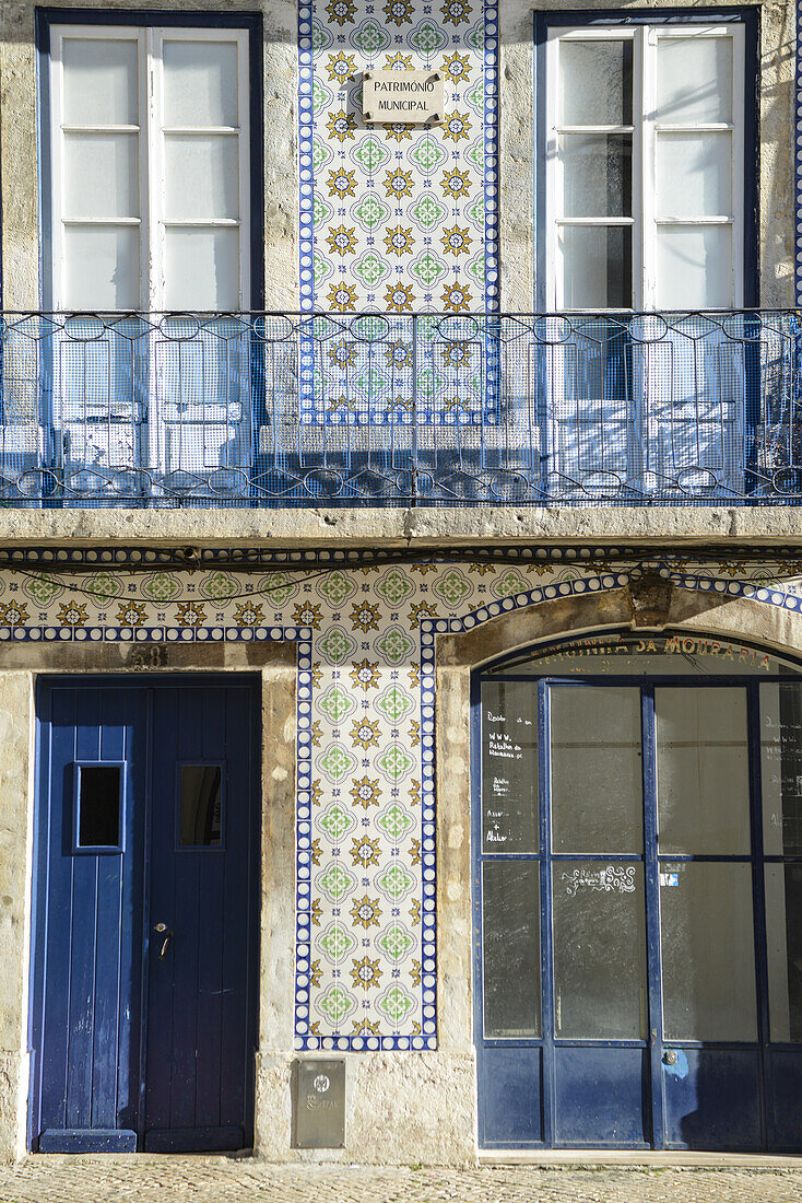
[(743, 304), (739, 24), (553, 29), (548, 308)]

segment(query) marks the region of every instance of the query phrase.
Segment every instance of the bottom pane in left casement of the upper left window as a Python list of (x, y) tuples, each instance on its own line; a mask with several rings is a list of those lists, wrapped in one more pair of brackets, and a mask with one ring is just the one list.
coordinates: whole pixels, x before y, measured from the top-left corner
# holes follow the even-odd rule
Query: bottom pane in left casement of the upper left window
[(63, 304), (139, 308), (138, 226), (64, 226)]

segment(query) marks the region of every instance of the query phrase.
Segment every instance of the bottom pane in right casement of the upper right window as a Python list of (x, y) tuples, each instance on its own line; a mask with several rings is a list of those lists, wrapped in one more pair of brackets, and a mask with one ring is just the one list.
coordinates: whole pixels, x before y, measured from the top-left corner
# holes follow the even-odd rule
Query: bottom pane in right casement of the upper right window
[(658, 309), (726, 309), (731, 304), (731, 227), (658, 226)]

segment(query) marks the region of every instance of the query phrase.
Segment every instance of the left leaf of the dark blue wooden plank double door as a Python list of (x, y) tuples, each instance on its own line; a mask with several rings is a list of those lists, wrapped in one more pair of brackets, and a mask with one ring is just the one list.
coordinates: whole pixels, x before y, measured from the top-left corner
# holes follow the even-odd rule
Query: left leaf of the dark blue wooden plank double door
[(136, 1148), (143, 689), (41, 694), (31, 1146)]

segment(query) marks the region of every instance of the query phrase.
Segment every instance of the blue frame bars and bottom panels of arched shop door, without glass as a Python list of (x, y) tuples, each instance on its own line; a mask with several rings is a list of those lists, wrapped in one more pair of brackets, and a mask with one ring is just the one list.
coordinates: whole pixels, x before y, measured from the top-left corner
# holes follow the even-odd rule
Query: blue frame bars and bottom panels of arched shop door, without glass
[[(518, 658), (521, 653), (517, 653)], [(492, 671), (492, 677), (488, 672)], [(485, 852), (482, 845), (482, 682), (525, 681), (535, 698), (537, 727), (537, 834), (533, 853)], [(475, 674), (471, 692), (471, 843), (474, 914), (474, 1030), (479, 1073), (479, 1137), (487, 1149), (632, 1148), (802, 1149), (802, 1044), (771, 1042), (765, 865), (802, 866), (802, 857), (764, 852), (761, 812), (760, 695), (764, 683), (792, 677), (699, 675), (540, 677), (488, 666)], [(553, 853), (551, 847), (549, 694), (553, 687), (628, 686), (641, 691), (643, 751), (643, 855)], [(657, 841), (654, 691), (667, 687), (747, 692), (750, 853), (661, 854)], [(711, 698), (712, 700), (712, 698)], [(535, 717), (533, 715), (533, 717)], [(648, 1038), (558, 1039), (554, 1017), (552, 865), (560, 861), (629, 860), (643, 865)], [(541, 1036), (486, 1038), (483, 1026), (482, 872), (488, 863), (536, 863), (540, 887)], [(751, 870), (755, 1008), (754, 1042), (672, 1039), (663, 1030), (660, 871), (689, 861), (747, 863)], [(673, 1057), (666, 1063), (665, 1056)]]

